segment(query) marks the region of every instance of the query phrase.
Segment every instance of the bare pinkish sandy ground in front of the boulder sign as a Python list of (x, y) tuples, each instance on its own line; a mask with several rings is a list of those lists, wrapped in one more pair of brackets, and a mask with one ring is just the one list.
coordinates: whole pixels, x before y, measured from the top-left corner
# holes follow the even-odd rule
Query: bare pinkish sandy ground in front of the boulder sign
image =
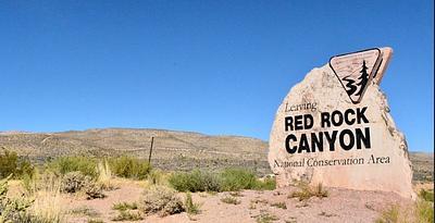
[[(201, 203), (201, 213), (188, 215), (179, 213), (160, 218), (158, 215), (146, 216), (136, 222), (157, 223), (183, 223), (183, 222), (220, 222), (220, 223), (245, 223), (257, 222), (260, 214), (270, 213), (277, 216), (273, 222), (374, 222), (383, 209), (393, 203), (407, 207), (412, 201), (403, 199), (393, 193), (358, 191), (349, 189), (327, 188), (327, 198), (311, 198), (308, 201), (299, 201), (288, 198), (295, 187), (286, 187), (273, 191), (240, 191), (239, 205), (224, 203), (221, 198), (229, 196), (228, 193), (210, 195), (207, 193), (192, 194), (194, 202)], [(115, 202), (138, 201), (144, 188), (139, 185), (129, 184), (119, 189), (107, 191), (107, 198), (86, 200), (80, 197), (65, 197), (64, 203), (67, 209), (88, 209), (90, 216), (72, 214), (69, 222), (87, 222), (89, 219), (99, 219), (103, 222), (112, 222), (117, 211), (111, 207)], [(179, 194), (184, 197), (184, 194)], [(184, 200), (184, 199), (183, 199)], [(272, 203), (285, 202), (286, 209), (272, 207)]]

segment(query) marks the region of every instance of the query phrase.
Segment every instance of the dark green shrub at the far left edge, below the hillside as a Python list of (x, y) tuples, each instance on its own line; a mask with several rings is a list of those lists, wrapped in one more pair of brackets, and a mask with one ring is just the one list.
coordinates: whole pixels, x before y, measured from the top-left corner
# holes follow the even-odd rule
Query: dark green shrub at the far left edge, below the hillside
[(4, 178), (11, 174), (14, 178), (20, 178), (24, 175), (30, 176), (35, 172), (35, 166), (28, 159), (20, 158), (16, 152), (2, 149), (0, 154), (0, 178)]

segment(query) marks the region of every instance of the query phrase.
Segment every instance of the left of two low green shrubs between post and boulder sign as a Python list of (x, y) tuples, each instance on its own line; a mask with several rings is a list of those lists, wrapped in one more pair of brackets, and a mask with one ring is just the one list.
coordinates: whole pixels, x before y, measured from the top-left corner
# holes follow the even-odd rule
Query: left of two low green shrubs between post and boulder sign
[(221, 178), (213, 173), (194, 170), (177, 172), (170, 176), (169, 183), (178, 191), (220, 191)]

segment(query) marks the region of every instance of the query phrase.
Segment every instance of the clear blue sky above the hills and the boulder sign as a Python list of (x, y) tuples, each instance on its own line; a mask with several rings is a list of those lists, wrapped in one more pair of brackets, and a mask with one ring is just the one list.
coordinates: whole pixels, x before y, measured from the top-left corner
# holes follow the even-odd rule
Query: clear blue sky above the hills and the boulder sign
[(0, 131), (145, 127), (269, 138), (331, 55), (390, 46), (382, 83), (434, 148), (433, 1), (1, 1)]

